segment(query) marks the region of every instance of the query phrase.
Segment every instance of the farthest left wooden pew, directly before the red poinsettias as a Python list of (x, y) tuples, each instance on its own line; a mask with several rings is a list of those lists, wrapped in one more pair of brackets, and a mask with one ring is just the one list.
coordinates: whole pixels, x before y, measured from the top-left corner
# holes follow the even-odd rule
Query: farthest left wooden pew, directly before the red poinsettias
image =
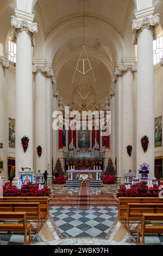
[(0, 197), (0, 202), (39, 202), (43, 213), (43, 219), (49, 218), (49, 198), (48, 197)]

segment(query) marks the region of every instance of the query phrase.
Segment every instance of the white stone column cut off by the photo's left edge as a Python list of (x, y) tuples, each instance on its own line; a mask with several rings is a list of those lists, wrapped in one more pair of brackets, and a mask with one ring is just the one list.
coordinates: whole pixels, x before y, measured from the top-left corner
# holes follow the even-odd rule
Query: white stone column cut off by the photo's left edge
[(3, 171), (0, 176), (6, 180), (7, 178), (7, 156), (6, 156), (6, 143), (5, 143), (5, 68), (9, 68), (9, 61), (4, 57), (0, 56), (0, 160), (3, 160)]

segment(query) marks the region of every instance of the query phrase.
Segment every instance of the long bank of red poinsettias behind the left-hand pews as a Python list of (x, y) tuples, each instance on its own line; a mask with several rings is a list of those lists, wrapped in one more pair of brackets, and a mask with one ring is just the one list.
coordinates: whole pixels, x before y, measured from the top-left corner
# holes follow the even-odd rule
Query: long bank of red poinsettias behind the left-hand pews
[(39, 189), (39, 186), (32, 182), (22, 185), (21, 189), (16, 188), (11, 182), (7, 182), (3, 186), (4, 197), (49, 197), (49, 195), (51, 195), (51, 189), (47, 186)]

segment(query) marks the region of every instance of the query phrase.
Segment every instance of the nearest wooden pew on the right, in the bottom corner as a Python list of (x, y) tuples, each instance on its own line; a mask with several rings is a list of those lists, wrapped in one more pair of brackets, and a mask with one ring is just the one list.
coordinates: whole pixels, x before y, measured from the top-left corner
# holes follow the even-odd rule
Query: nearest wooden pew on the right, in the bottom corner
[[(147, 222), (156, 223), (158, 225), (148, 225)], [(161, 223), (160, 223), (161, 222)], [(150, 224), (151, 224), (150, 223)], [(162, 234), (163, 233), (163, 213), (142, 213), (141, 225), (137, 225), (137, 244), (145, 244), (145, 234)], [(142, 242), (140, 242), (140, 235)]]

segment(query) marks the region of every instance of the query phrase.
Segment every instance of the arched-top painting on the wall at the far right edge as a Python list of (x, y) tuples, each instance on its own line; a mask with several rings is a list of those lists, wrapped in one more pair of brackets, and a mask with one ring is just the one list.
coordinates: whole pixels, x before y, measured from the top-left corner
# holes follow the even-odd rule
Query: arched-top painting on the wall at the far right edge
[(155, 147), (162, 147), (162, 116), (155, 118), (154, 135)]

